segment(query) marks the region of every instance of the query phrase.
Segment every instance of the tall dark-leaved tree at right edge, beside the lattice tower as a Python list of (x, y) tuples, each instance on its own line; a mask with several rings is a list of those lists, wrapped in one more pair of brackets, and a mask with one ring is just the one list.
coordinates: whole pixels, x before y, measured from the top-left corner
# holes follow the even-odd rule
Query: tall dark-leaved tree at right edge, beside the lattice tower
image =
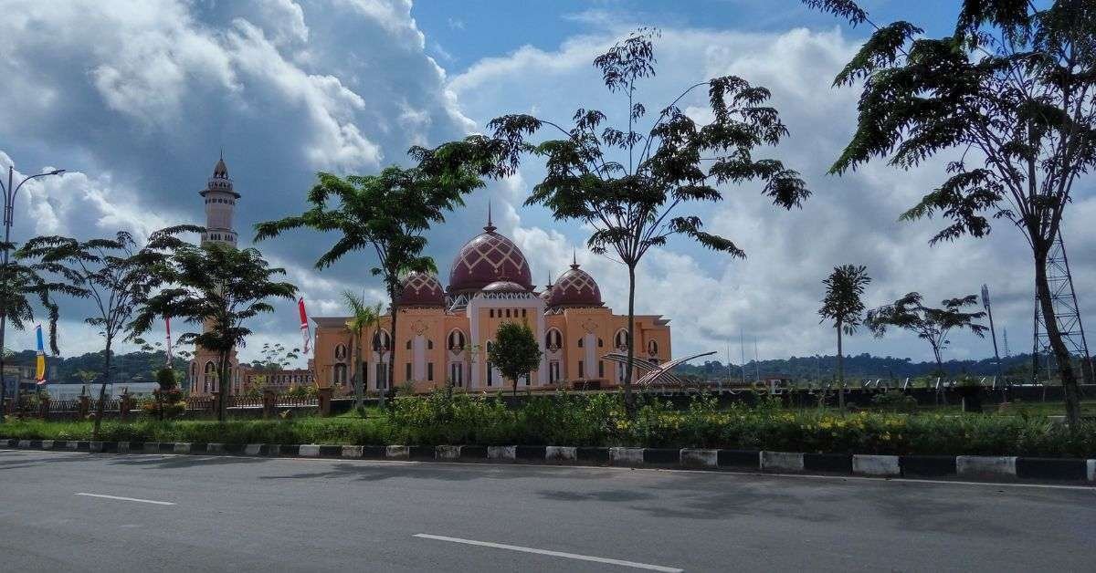
[(1047, 337), (1071, 424), (1081, 415), (1073, 359), (1058, 324), (1047, 257), (1073, 190), (1096, 167), (1096, 8), (1091, 0), (962, 0), (955, 32), (879, 26), (853, 0), (808, 5), (867, 23), (871, 37), (835, 85), (861, 89), (856, 133), (831, 168), (875, 158), (910, 169), (947, 153), (947, 179), (902, 215), (950, 221), (932, 243), (984, 237), (990, 219), (1027, 240)]

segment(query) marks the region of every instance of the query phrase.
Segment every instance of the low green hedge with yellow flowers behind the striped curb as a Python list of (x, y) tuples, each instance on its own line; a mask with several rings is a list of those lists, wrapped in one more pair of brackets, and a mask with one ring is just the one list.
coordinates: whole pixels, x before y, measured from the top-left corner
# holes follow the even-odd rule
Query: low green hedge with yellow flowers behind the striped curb
[[(89, 439), (91, 424), (9, 422), (12, 438)], [(783, 410), (762, 399), (719, 409), (697, 397), (675, 410), (641, 397), (628, 420), (619, 394), (530, 397), (507, 408), (501, 397), (435, 391), (397, 398), (369, 417), (278, 421), (142, 420), (104, 423), (102, 439), (226, 444), (559, 445), (768, 449), (854, 454), (1096, 457), (1096, 424), (1070, 428), (1032, 415), (944, 415)]]

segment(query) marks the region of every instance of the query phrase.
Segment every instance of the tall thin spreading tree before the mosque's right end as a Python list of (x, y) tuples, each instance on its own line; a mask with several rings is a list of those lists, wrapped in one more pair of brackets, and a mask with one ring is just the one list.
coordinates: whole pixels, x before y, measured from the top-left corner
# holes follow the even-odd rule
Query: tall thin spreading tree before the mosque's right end
[[(608, 91), (625, 104), (619, 127), (607, 125), (597, 110), (579, 108), (573, 126), (527, 114), (490, 122), (490, 138), (480, 141), (477, 159), (495, 157), (494, 175), (516, 171), (521, 158), (543, 157), (547, 173), (526, 205), (544, 205), (557, 219), (574, 219), (594, 229), (587, 244), (628, 268), (628, 363), (635, 359), (636, 267), (651, 248), (683, 234), (701, 245), (744, 257), (732, 241), (704, 230), (695, 215), (703, 204), (723, 198), (717, 188), (751, 181), (764, 183), (762, 193), (779, 207), (799, 206), (810, 195), (799, 174), (778, 160), (754, 157), (760, 147), (777, 145), (788, 135), (777, 111), (766, 102), (769, 92), (735, 76), (693, 84), (641, 127), (647, 107), (636, 101), (637, 84), (655, 75), (658, 31), (640, 28), (594, 58)], [(683, 111), (699, 89), (707, 90), (710, 119), (698, 123)], [(538, 144), (529, 138), (549, 131)], [(561, 137), (560, 137), (561, 136)], [(680, 213), (699, 204), (694, 214)], [(635, 409), (632, 368), (624, 377), (625, 400)]]

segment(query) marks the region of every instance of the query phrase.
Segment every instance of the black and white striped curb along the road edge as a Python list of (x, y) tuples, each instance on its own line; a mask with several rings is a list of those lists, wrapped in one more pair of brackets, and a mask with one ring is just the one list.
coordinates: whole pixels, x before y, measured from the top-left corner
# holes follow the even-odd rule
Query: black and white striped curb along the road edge
[(570, 446), (338, 446), (4, 439), (0, 446), (110, 454), (195, 454), (419, 461), (540, 462), (632, 468), (807, 472), (879, 478), (1068, 480), (1096, 483), (1096, 459), (1015, 456), (876, 456), (740, 449)]

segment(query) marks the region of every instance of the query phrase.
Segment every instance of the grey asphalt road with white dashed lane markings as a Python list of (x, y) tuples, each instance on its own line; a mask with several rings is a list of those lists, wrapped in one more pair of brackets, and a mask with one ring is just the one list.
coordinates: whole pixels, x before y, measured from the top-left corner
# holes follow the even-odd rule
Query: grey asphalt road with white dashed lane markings
[(1094, 571), (1096, 489), (0, 450), (0, 571), (643, 568)]

